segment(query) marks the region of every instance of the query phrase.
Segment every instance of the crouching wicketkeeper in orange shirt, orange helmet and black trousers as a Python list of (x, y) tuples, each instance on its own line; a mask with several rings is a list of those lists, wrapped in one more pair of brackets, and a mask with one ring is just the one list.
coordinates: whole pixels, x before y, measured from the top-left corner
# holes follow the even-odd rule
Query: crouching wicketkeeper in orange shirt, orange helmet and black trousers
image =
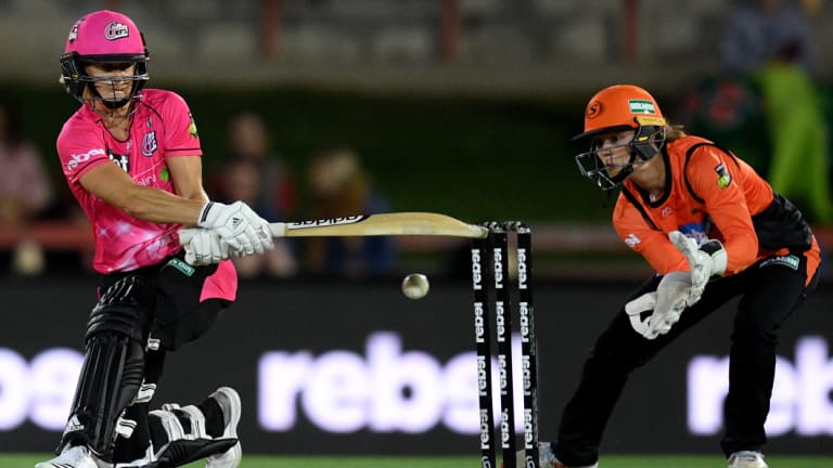
[(613, 223), (657, 274), (627, 298), (564, 408), (551, 466), (595, 466), (608, 417), (637, 367), (733, 297), (721, 447), (730, 467), (765, 468), (778, 333), (817, 283), (819, 246), (802, 213), (729, 151), (666, 123), (653, 96), (614, 86), (587, 106), (576, 157)]

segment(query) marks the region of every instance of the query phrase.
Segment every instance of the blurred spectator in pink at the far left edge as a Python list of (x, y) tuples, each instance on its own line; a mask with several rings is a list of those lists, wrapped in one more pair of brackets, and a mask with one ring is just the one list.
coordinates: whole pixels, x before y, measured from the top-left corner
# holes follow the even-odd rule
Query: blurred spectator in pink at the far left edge
[[(21, 128), (15, 105), (0, 98), (0, 226), (25, 230), (52, 202), (52, 184), (41, 155)], [(41, 247), (22, 237), (0, 257), (11, 259), (17, 274), (37, 274), (44, 268)]]

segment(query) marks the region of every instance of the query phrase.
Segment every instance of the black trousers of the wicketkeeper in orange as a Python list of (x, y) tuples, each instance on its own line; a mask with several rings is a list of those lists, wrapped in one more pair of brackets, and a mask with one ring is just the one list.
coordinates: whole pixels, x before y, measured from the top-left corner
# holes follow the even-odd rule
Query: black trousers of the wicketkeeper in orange
[[(564, 408), (555, 447), (559, 459), (567, 466), (595, 463), (602, 432), (630, 373), (735, 296), (741, 296), (741, 300), (731, 335), (721, 447), (728, 456), (762, 446), (778, 332), (818, 283), (816, 273), (805, 287), (807, 261), (804, 256), (797, 257), (797, 270), (762, 260), (736, 275), (714, 280), (702, 299), (682, 313), (671, 330), (654, 340), (633, 330), (623, 304), (598, 338), (585, 362), (578, 389)], [(652, 277), (625, 302), (655, 290), (659, 280)]]

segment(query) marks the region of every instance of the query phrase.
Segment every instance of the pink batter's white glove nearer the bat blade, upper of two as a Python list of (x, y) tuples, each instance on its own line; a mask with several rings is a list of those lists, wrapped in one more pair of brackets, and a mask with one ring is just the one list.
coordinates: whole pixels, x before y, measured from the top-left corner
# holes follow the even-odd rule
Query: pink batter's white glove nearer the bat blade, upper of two
[(231, 205), (208, 202), (203, 206), (197, 225), (217, 231), (221, 240), (242, 255), (274, 248), (269, 223), (243, 202)]

